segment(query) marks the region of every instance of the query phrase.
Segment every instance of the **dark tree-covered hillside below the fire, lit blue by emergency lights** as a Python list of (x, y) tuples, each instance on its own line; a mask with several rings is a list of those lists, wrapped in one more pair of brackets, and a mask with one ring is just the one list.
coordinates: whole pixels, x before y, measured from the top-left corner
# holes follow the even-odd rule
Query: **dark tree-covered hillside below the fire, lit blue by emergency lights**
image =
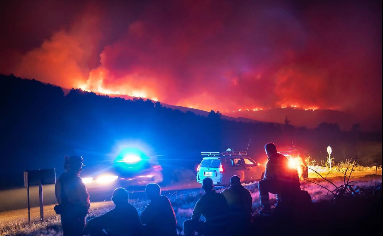
[(1, 159), (8, 167), (0, 175), (8, 181), (0, 187), (22, 184), (26, 169), (57, 168), (60, 173), (65, 154), (82, 155), (89, 166), (105, 163), (113, 159), (112, 147), (123, 140), (150, 146), (150, 155), (157, 156), (164, 172), (195, 168), (201, 151), (246, 150), (250, 139), (248, 153), (255, 160), (265, 159), (267, 142), (275, 142), (280, 150), (292, 148), (293, 142), (316, 159), (325, 158), (331, 145), (339, 160), (358, 154), (363, 164), (381, 163), (380, 133), (344, 132), (326, 122), (306, 129), (229, 121), (214, 111), (204, 117), (151, 100), (110, 98), (79, 89), (64, 95), (60, 87), (37, 80), (0, 78)]

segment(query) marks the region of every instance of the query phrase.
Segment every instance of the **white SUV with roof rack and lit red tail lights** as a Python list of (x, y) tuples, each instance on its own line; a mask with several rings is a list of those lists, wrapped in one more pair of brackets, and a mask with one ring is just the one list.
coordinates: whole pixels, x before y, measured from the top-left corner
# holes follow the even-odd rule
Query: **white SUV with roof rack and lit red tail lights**
[(246, 151), (202, 152), (201, 164), (197, 168), (197, 182), (209, 177), (214, 185), (229, 186), (233, 175), (241, 182), (252, 182), (263, 178), (265, 165), (247, 156)]

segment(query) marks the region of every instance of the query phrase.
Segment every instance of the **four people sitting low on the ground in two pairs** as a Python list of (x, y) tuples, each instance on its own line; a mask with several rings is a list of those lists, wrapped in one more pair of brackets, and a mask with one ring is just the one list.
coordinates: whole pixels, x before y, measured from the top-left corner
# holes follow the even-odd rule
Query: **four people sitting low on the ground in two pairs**
[[(250, 191), (241, 185), (239, 176), (232, 176), (230, 187), (222, 193), (213, 189), (213, 181), (205, 178), (202, 185), (205, 194), (196, 203), (193, 215), (184, 225), (185, 235), (194, 232), (218, 235), (228, 231), (230, 225), (245, 229), (251, 223), (252, 197)], [(147, 198), (151, 201), (139, 216), (136, 208), (128, 202), (128, 192), (117, 188), (112, 201), (116, 207), (104, 215), (87, 222), (84, 234), (98, 235), (177, 235), (177, 220), (173, 207), (165, 195), (161, 195), (158, 184), (146, 186)], [(205, 221), (200, 221), (201, 215)], [(241, 227), (239, 227), (241, 226)], [(239, 228), (238, 228), (239, 227)]]

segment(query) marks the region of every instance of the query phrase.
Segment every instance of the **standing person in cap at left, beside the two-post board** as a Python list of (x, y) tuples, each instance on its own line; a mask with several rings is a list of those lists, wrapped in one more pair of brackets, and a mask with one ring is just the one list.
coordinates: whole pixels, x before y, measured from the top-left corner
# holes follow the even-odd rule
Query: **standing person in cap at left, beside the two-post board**
[(90, 208), (89, 194), (82, 182), (83, 159), (80, 156), (65, 156), (65, 173), (61, 174), (55, 186), (59, 203), (54, 210), (61, 215), (64, 236), (82, 236), (85, 216)]

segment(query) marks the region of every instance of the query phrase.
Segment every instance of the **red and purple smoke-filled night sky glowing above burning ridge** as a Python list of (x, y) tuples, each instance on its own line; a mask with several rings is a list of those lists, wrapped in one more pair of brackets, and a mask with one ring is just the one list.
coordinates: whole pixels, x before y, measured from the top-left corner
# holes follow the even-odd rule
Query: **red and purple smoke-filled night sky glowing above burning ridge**
[(381, 1), (0, 8), (0, 73), (208, 111), (334, 109), (381, 129)]

